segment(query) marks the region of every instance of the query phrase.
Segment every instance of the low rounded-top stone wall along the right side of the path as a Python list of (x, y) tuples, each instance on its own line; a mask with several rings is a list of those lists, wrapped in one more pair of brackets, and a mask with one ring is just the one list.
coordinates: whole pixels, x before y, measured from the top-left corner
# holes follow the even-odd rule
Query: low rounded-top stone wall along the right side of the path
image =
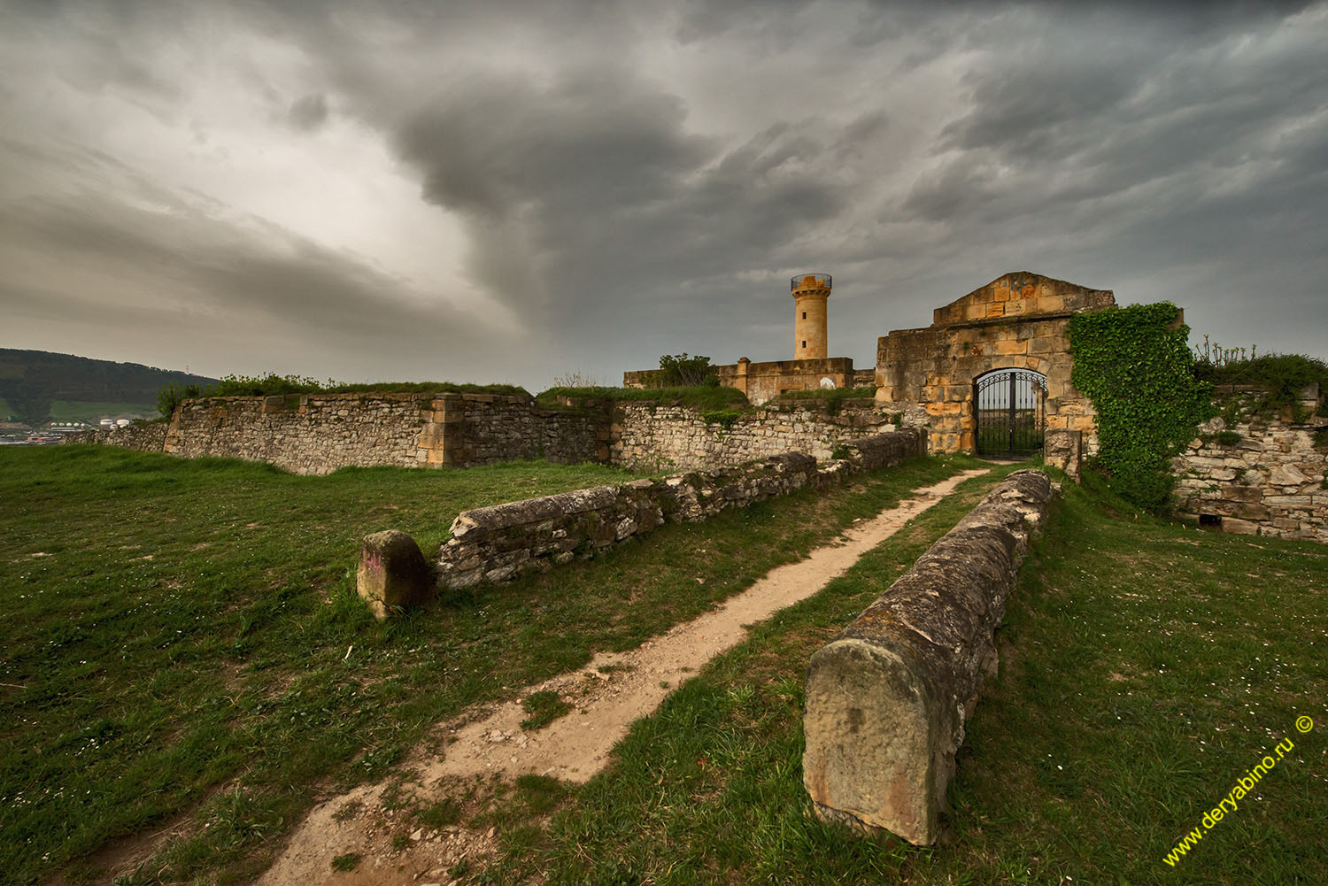
[(811, 656), (802, 778), (822, 818), (936, 841), (993, 631), (1052, 494), (1042, 472), (1012, 473)]

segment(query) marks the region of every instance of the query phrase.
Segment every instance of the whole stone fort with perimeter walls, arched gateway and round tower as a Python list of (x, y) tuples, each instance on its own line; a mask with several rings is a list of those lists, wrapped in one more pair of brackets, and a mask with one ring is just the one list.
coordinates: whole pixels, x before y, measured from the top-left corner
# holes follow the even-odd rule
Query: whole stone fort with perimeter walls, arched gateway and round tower
[[(865, 438), (912, 429), (931, 454), (1045, 462), (1077, 478), (1098, 450), (1093, 404), (1074, 388), (1069, 344), (1077, 313), (1114, 306), (1094, 290), (1040, 274), (1003, 274), (932, 312), (931, 325), (876, 340), (876, 364), (829, 356), (829, 274), (790, 280), (793, 359), (742, 357), (718, 383), (760, 408), (722, 416), (653, 401), (582, 400), (550, 408), (530, 397), (474, 393), (309, 393), (199, 397), (169, 422), (70, 434), (183, 457), (266, 461), (300, 474), (344, 466), (467, 468), (518, 458), (596, 461), (637, 470), (722, 469), (790, 452), (839, 458)], [(1183, 323), (1183, 315), (1178, 315)], [(660, 371), (624, 373), (653, 387)], [(871, 397), (781, 399), (795, 391), (875, 387)], [(1173, 460), (1182, 514), (1223, 531), (1328, 541), (1328, 473), (1316, 446), (1317, 385), (1287, 414), (1202, 426)], [(1248, 396), (1218, 392), (1219, 396)], [(1216, 422), (1216, 424), (1214, 424)], [(1214, 436), (1235, 434), (1224, 445)]]

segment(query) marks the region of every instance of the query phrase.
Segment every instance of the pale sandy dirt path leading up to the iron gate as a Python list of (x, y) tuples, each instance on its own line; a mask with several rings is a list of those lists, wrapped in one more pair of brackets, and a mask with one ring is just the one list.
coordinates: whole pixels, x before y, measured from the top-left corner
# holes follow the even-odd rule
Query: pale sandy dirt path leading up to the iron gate
[[(811, 596), (955, 486), (984, 473), (985, 469), (963, 472), (916, 490), (898, 507), (859, 521), (835, 543), (772, 570), (716, 610), (677, 624), (629, 652), (596, 655), (579, 671), (522, 689), (514, 701), (467, 712), (444, 724), (446, 749), (441, 758), (418, 756), (418, 782), (405, 788), (405, 802), (400, 796), (385, 802), (388, 784), (378, 784), (356, 788), (316, 806), (259, 883), (441, 886), (452, 882), (449, 870), (454, 865), (493, 851), (494, 832), (461, 826), (430, 829), (414, 820), (412, 806), (457, 796), (494, 776), (511, 780), (535, 773), (574, 782), (588, 780), (604, 768), (633, 720), (651, 715), (679, 683), (741, 643), (748, 624)], [(558, 692), (574, 711), (544, 729), (523, 732), (521, 721), (529, 715), (521, 699), (538, 691)], [(332, 859), (349, 854), (360, 857), (355, 869), (335, 871)]]

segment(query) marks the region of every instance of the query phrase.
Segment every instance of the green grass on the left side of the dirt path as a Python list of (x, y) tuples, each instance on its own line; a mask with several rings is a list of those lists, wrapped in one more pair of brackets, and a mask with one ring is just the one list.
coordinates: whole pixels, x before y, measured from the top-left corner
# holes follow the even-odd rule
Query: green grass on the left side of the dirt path
[(100, 847), (170, 822), (183, 836), (133, 882), (243, 879), (312, 802), (392, 772), (429, 724), (632, 648), (967, 464), (667, 526), (381, 624), (355, 596), (365, 533), (404, 529), (429, 551), (465, 507), (628, 476), (3, 452), (0, 869), (97, 881)]

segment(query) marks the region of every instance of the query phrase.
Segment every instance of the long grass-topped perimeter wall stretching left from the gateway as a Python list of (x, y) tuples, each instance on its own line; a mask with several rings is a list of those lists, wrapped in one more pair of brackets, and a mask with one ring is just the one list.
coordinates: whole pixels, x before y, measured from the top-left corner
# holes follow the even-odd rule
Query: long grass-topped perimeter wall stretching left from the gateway
[(290, 395), (186, 400), (169, 426), (85, 432), (70, 434), (70, 442), (266, 461), (297, 474), (351, 465), (469, 468), (519, 458), (688, 470), (784, 452), (825, 460), (837, 446), (894, 430), (890, 420), (870, 399), (845, 400), (834, 414), (823, 404), (801, 401), (721, 410), (708, 421), (695, 409), (647, 401), (542, 409), (498, 395)]

